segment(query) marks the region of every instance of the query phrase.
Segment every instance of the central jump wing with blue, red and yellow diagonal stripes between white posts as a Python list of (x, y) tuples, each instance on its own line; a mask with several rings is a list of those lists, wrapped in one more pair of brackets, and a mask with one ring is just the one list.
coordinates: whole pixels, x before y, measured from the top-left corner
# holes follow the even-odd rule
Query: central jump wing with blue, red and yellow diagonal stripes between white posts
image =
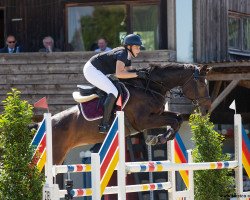
[(118, 199), (126, 200), (124, 112), (118, 111), (100, 150), (91, 155), (93, 200), (100, 200), (117, 167)]

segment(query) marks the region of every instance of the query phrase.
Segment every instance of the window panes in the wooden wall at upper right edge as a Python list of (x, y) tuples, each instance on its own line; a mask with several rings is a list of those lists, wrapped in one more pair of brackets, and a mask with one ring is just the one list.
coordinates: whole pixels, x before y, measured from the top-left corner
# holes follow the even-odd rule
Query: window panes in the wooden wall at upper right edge
[(250, 54), (250, 16), (231, 13), (228, 19), (229, 53)]

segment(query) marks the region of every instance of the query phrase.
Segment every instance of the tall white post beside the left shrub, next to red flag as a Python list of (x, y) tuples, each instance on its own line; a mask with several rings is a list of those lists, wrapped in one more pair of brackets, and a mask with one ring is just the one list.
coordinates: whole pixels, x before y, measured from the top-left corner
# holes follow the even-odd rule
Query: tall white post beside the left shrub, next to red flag
[(45, 113), (45, 127), (46, 127), (46, 163), (45, 163), (45, 178), (48, 187), (53, 187), (53, 155), (52, 155), (52, 125), (51, 113)]

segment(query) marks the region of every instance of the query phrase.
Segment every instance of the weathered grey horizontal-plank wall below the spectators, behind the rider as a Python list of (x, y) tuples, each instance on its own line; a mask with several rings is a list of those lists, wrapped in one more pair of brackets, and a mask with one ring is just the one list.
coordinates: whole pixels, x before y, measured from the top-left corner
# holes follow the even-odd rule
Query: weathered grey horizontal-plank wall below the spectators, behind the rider
[[(2, 54), (0, 57), (0, 101), (11, 88), (22, 93), (22, 99), (34, 104), (48, 97), (52, 114), (76, 105), (72, 92), (85, 82), (82, 68), (93, 52)], [(175, 61), (174, 51), (142, 52), (134, 65), (146, 67), (151, 62)], [(2, 107), (1, 107), (2, 110)], [(43, 113), (37, 109), (36, 114)]]

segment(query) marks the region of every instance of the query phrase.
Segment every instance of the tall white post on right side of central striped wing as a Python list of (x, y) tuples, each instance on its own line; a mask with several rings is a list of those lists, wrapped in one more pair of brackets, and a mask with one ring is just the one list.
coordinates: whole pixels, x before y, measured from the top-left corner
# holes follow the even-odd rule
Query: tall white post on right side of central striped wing
[(124, 112), (118, 111), (118, 139), (119, 139), (119, 162), (117, 170), (118, 199), (126, 200), (126, 171), (125, 171), (125, 125)]

